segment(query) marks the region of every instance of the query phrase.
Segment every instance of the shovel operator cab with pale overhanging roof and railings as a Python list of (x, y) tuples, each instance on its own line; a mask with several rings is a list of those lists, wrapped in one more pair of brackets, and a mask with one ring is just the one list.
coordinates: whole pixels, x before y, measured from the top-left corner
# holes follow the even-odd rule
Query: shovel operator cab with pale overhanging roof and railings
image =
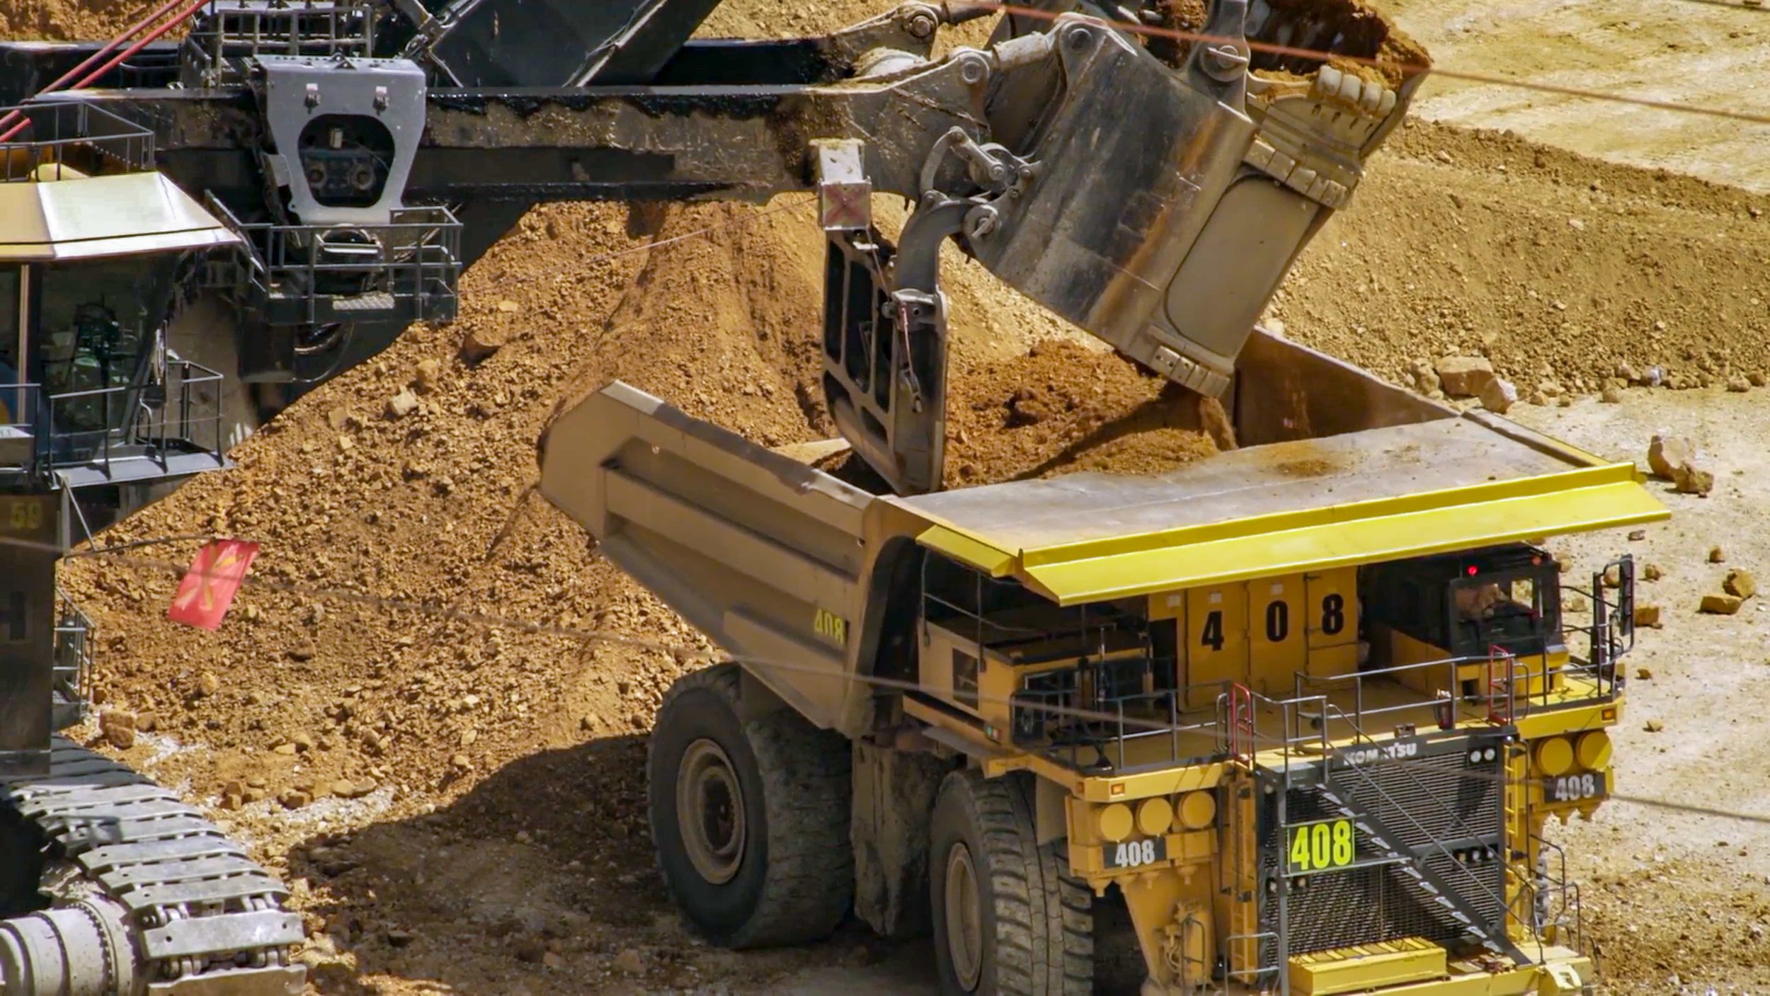
[(225, 467), (221, 375), (166, 329), (237, 237), (152, 170), (152, 133), (76, 103), (0, 108), (0, 494), (103, 527)]

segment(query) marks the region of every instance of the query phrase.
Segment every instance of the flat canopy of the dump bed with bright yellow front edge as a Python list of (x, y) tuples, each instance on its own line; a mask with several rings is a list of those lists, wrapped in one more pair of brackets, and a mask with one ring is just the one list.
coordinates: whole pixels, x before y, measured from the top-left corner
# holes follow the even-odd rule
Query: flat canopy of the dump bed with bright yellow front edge
[(1271, 442), (1156, 478), (1087, 472), (887, 501), (931, 524), (924, 545), (1023, 575), (1062, 605), (1658, 517), (1632, 465), (1533, 442), (1444, 418)]

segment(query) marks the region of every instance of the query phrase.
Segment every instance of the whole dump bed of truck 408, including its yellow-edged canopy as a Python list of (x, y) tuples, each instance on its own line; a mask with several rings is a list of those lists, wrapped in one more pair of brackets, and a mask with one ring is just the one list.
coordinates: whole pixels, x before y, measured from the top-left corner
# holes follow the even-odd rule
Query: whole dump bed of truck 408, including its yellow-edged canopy
[[(542, 494), (604, 554), (825, 727), (858, 732), (858, 676), (912, 545), (1058, 603), (1319, 571), (1666, 517), (1632, 464), (1416, 398), (1255, 334), (1243, 448), (1159, 476), (1069, 474), (873, 495), (625, 384), (542, 441)], [(885, 670), (890, 670), (889, 667)]]

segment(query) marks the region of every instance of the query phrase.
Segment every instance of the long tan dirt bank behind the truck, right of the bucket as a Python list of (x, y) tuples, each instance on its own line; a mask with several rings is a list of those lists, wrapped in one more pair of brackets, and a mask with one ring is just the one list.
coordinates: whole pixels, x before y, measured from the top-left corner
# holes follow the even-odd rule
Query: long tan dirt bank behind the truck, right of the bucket
[(1273, 311), (1398, 382), (1412, 361), (1478, 354), (1524, 396), (1597, 393), (1620, 364), (1722, 384), (1770, 368), (1766, 214), (1736, 188), (1411, 122)]

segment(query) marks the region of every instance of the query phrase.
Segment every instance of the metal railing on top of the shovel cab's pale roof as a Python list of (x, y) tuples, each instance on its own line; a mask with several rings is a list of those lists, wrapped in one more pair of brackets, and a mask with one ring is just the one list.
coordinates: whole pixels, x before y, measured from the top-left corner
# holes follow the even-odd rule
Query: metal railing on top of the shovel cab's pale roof
[(154, 168), (154, 133), (81, 101), (0, 108), (0, 182)]

